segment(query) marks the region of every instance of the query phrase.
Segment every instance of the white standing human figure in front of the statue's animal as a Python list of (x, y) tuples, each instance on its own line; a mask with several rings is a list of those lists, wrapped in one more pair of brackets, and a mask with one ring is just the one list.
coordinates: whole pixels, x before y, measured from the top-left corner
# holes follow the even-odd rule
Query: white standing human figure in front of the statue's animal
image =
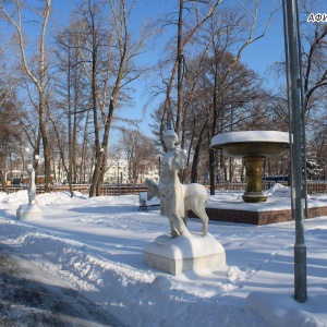
[(185, 168), (186, 153), (177, 145), (179, 137), (173, 130), (165, 132), (164, 142), (168, 150), (161, 161), (162, 170), (158, 185), (160, 210), (170, 221), (171, 237), (177, 238), (185, 229), (182, 220), (185, 216), (184, 195), (178, 172)]

